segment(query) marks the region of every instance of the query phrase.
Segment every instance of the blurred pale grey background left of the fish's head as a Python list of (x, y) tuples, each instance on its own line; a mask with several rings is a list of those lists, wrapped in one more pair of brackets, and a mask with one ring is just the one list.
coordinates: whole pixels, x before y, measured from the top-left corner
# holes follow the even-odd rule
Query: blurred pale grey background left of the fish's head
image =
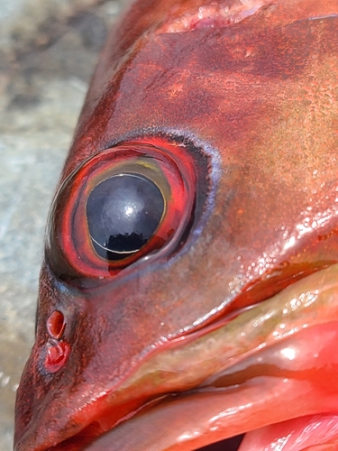
[(0, 449), (33, 340), (43, 234), (106, 34), (130, 0), (0, 0)]

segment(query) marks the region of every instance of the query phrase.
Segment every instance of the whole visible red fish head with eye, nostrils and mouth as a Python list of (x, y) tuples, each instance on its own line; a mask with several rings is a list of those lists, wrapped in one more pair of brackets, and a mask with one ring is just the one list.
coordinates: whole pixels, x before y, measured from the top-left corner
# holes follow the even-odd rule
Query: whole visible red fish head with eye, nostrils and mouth
[(336, 0), (134, 4), (50, 210), (15, 450), (338, 449), (337, 159)]

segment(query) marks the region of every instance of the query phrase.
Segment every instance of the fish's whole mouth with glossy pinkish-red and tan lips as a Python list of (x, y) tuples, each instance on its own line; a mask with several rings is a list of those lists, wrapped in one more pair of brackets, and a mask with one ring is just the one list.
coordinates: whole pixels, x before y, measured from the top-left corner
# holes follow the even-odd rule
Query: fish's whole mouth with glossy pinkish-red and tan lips
[[(337, 283), (333, 264), (174, 340), (107, 394), (75, 435), (16, 449), (184, 451), (221, 440), (228, 451), (336, 449)], [(115, 421), (127, 404), (133, 409)]]

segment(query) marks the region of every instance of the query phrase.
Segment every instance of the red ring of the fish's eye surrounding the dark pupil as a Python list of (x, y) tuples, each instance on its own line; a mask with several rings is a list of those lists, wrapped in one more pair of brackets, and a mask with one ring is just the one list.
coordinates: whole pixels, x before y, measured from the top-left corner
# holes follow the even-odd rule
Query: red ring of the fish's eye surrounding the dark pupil
[[(166, 204), (160, 225), (140, 250), (123, 260), (108, 261), (93, 247), (87, 224), (87, 199), (93, 189), (114, 175), (142, 173), (155, 181)], [(167, 245), (178, 245), (190, 222), (196, 197), (193, 157), (176, 143), (160, 138), (123, 143), (85, 161), (66, 179), (50, 214), (47, 251), (51, 264), (66, 262), (73, 277), (106, 278)], [(59, 254), (58, 254), (59, 252)], [(62, 268), (59, 270), (62, 273)], [(58, 320), (51, 327), (58, 328)]]

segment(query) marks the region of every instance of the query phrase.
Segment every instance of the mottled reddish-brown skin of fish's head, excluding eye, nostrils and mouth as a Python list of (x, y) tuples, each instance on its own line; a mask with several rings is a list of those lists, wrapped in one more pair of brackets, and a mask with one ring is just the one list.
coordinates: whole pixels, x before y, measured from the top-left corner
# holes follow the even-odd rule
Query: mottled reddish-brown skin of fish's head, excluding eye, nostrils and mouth
[[(151, 345), (182, 335), (224, 300), (218, 316), (338, 262), (338, 17), (306, 20), (338, 14), (338, 6), (271, 3), (229, 27), (163, 34), (166, 8), (179, 6), (175, 18), (203, 2), (143, 0), (108, 41), (62, 179), (116, 143), (186, 136), (220, 157), (215, 203), (194, 245), (188, 238), (170, 264), (168, 256), (140, 265), (127, 280), (74, 287), (56, 278), (47, 254), (15, 440), (32, 423), (46, 437), (34, 445), (32, 434), (18, 450), (43, 451), (72, 436), (96, 410), (89, 403), (113, 391)], [(324, 226), (299, 236), (306, 217), (312, 224), (325, 214)], [(50, 374), (41, 354), (55, 309), (66, 318), (62, 339), (71, 351)], [(116, 420), (137, 404), (119, 408)]]

